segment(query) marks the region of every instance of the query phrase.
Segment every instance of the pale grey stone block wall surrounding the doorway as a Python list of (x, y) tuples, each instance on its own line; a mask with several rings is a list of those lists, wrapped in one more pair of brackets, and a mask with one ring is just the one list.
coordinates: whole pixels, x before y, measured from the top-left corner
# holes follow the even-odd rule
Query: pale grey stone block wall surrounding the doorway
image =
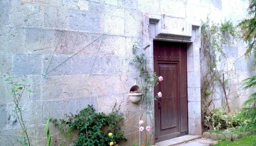
[[(129, 102), (128, 92), (140, 78), (129, 61), (132, 45), (143, 43), (143, 16), (163, 15), (166, 30), (179, 33), (187, 23), (200, 25), (208, 14), (215, 23), (226, 17), (237, 24), (248, 5), (242, 0), (0, 0), (0, 145), (13, 145), (19, 137), (13, 99), (6, 93), (7, 72), (31, 85), (33, 93), (26, 93), (21, 104), (32, 143), (45, 137), (49, 114), (64, 118), (93, 104), (98, 112), (117, 108), (125, 113), (125, 145), (137, 144), (140, 106)], [(239, 82), (254, 72), (251, 61), (241, 56), (242, 44), (226, 51), (230, 59), (239, 58), (233, 72), (240, 96), (234, 108), (241, 108), (253, 90), (238, 91)], [(41, 143), (45, 139), (34, 144)]]

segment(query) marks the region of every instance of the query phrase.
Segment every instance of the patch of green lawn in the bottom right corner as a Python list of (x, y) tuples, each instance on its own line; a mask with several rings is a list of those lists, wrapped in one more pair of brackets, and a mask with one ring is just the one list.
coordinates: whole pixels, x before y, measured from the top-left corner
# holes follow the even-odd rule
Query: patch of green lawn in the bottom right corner
[(214, 146), (256, 146), (256, 135), (248, 135), (237, 141), (218, 141)]

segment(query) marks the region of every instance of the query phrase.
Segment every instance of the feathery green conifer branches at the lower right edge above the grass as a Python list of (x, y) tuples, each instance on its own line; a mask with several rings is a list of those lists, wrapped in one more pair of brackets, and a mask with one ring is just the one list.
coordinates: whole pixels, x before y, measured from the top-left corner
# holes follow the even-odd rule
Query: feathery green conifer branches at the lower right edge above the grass
[[(244, 90), (249, 88), (256, 88), (256, 76), (252, 76), (251, 78), (246, 78), (244, 81)], [(256, 92), (248, 97), (243, 104), (243, 108), (241, 110), (241, 118), (243, 120), (249, 120), (246, 129), (248, 128), (256, 128)]]

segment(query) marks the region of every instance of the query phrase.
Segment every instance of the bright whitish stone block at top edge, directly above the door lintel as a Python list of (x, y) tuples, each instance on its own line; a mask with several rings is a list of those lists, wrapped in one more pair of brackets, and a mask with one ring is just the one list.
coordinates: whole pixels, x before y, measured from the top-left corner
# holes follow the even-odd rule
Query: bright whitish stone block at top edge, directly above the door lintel
[(160, 0), (161, 14), (179, 18), (186, 17), (186, 2), (185, 0)]

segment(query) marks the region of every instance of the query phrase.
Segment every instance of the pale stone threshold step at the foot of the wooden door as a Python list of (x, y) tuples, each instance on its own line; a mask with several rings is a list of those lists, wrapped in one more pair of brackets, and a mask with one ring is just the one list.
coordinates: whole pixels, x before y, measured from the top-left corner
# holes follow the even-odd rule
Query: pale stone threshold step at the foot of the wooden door
[(202, 138), (202, 135), (184, 135), (182, 137), (177, 137), (177, 138), (169, 139), (166, 141), (157, 142), (155, 143), (155, 146), (174, 146), (180, 143), (192, 141), (197, 138)]

